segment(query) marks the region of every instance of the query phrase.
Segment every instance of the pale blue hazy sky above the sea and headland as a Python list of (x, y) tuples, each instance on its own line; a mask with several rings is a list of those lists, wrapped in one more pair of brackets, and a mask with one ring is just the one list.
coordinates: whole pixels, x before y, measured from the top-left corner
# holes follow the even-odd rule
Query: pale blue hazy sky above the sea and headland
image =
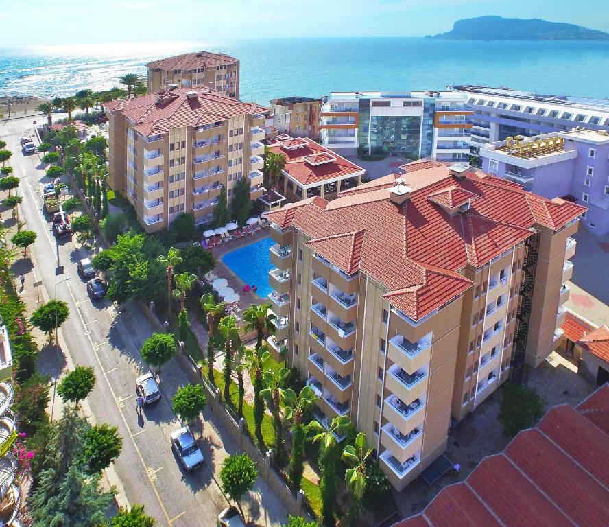
[(0, 46), (425, 36), (488, 14), (609, 32), (609, 0), (0, 0)]

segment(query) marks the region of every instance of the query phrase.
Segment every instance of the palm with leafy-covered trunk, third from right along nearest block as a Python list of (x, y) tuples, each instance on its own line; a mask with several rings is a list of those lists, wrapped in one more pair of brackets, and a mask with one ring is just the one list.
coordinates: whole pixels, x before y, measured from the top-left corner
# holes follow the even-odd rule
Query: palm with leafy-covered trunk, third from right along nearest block
[(302, 425), (302, 415), (305, 410), (317, 399), (313, 390), (305, 386), (296, 395), (294, 390), (287, 388), (281, 394), (281, 404), (285, 412), (285, 419), (291, 421), (292, 449), (289, 460), (289, 482), (292, 489), (298, 491), (302, 481), (303, 463), (305, 460), (305, 429)]

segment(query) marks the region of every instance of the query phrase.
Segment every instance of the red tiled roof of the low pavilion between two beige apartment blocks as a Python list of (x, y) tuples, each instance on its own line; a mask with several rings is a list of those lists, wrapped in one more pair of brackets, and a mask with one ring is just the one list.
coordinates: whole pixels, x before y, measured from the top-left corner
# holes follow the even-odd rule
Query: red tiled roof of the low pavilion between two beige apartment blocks
[[(284, 171), (303, 186), (319, 184), (326, 180), (354, 177), (360, 172), (363, 173), (362, 167), (351, 163), (334, 152), (330, 152), (324, 146), (307, 137), (292, 138), (280, 135), (274, 139), (267, 139), (265, 142), (271, 152), (280, 152), (285, 156)], [(282, 145), (287, 148), (299, 145), (300, 148), (287, 150), (287, 148), (282, 148)], [(315, 155), (325, 155), (333, 159), (329, 163), (320, 165), (307, 163), (305, 158)]]

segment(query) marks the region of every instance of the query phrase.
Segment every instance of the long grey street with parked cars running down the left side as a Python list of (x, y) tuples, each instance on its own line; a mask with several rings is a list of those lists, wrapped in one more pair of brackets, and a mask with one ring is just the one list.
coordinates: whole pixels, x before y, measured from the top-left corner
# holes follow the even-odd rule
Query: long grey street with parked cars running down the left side
[[(95, 420), (117, 426), (123, 436), (123, 452), (115, 462), (115, 471), (128, 500), (130, 504), (144, 504), (146, 512), (156, 518), (159, 526), (215, 526), (217, 514), (227, 506), (227, 501), (214, 473), (219, 470), (226, 451), (232, 453), (238, 449), (226, 434), (206, 421), (200, 440), (206, 457), (204, 467), (187, 473), (178, 465), (169, 446), (169, 434), (179, 428), (180, 423), (171, 410), (170, 399), (175, 390), (186, 383), (186, 378), (173, 360), (163, 366), (160, 379), (163, 398), (145, 409), (143, 419), (137, 416), (134, 382), (147, 371), (139, 349), (152, 333), (150, 321), (135, 307), (117, 314), (108, 299), (91, 301), (88, 298), (84, 281), (76, 270), (77, 261), (88, 254), (76, 244), (75, 237), (74, 242), (56, 242), (52, 236), (51, 224), (41, 210), (43, 165), (37, 154), (23, 156), (21, 153), (19, 138), (28, 126), (33, 132), (31, 118), (8, 121), (0, 125), (0, 137), (13, 152), (10, 163), (14, 175), (21, 178), (19, 194), (23, 196), (21, 211), (26, 227), (38, 235), (36, 243), (29, 248), (32, 263), (47, 297), (53, 298), (57, 288), (58, 298), (69, 304), (71, 315), (60, 329), (65, 343), (62, 353), (69, 352), (73, 364), (95, 369), (97, 383), (88, 397)], [(58, 361), (64, 360), (63, 356), (58, 358)], [(250, 511), (258, 516), (259, 522), (267, 525), (284, 522), (283, 507), (260, 478), (255, 491)]]

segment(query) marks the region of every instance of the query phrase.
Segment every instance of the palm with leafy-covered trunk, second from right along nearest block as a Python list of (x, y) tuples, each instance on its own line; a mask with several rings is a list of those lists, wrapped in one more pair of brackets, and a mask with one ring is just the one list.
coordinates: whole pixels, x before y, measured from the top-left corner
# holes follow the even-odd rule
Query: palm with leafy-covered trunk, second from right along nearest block
[(317, 421), (311, 421), (309, 430), (315, 430), (313, 443), (320, 443), (320, 468), (322, 478), (320, 491), (322, 495), (322, 520), (326, 525), (334, 524), (334, 503), (338, 480), (336, 477), (337, 441), (336, 436), (346, 432), (351, 420), (346, 415), (337, 416), (330, 421), (328, 428), (324, 428)]

